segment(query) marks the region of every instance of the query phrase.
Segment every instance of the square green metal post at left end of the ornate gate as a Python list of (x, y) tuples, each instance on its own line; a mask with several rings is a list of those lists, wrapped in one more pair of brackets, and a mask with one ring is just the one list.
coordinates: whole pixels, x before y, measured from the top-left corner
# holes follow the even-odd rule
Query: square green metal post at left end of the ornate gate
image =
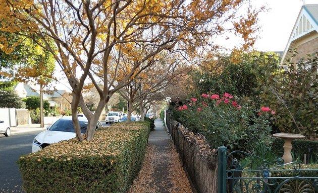
[(224, 146), (218, 148), (218, 193), (226, 193), (226, 150)]

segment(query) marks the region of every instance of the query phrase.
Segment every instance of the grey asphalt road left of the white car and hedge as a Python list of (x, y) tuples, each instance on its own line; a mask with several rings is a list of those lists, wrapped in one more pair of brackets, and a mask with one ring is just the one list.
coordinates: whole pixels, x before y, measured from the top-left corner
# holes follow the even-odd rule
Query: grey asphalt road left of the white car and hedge
[(38, 133), (40, 131), (0, 137), (0, 192), (23, 192), (17, 160), (31, 153), (32, 141)]

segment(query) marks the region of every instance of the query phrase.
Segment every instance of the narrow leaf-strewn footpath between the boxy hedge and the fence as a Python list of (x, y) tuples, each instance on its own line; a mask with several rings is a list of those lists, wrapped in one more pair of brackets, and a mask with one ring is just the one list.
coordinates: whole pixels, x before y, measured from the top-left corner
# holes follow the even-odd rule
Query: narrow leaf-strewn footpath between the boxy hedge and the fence
[(128, 193), (192, 193), (177, 150), (163, 122), (154, 121), (142, 168)]

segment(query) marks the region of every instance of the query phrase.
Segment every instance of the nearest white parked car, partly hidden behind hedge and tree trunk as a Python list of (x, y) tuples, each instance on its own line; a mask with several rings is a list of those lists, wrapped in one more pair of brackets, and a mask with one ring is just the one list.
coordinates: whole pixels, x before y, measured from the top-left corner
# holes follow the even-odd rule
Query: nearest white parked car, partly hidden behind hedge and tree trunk
[[(85, 133), (87, 129), (88, 120), (86, 117), (78, 117), (81, 126), (81, 133)], [(98, 121), (96, 129), (102, 127)], [(57, 143), (59, 141), (75, 138), (75, 130), (73, 126), (72, 117), (62, 117), (51, 125), (46, 131), (39, 133), (33, 140), (32, 153), (39, 151), (46, 146)]]

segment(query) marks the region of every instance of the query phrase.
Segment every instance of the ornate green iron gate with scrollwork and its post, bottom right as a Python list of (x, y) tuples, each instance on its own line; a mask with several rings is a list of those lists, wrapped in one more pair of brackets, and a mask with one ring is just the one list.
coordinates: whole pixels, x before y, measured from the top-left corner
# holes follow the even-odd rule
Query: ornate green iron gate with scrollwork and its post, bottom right
[[(218, 193), (318, 192), (318, 169), (302, 169), (298, 162), (284, 163), (282, 158), (270, 163), (243, 151), (227, 154), (227, 148), (223, 146), (218, 151)], [(238, 161), (239, 158), (242, 160)], [(256, 164), (253, 162), (255, 160), (258, 160)]]

